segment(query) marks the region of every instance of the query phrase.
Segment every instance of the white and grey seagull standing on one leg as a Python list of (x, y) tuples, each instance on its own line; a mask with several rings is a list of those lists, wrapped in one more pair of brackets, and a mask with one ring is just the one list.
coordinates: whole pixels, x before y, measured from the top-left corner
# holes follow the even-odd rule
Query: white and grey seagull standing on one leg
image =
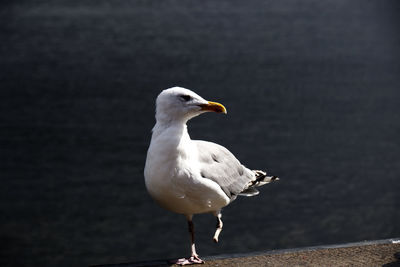
[(212, 213), (217, 218), (213, 240), (218, 242), (221, 209), (237, 196), (255, 196), (256, 187), (279, 180), (246, 168), (221, 145), (192, 140), (186, 123), (205, 112), (227, 113), (222, 104), (182, 87), (163, 90), (156, 100), (144, 177), (147, 191), (161, 207), (186, 216), (191, 256), (174, 261), (178, 265), (204, 263), (196, 253), (194, 214)]

